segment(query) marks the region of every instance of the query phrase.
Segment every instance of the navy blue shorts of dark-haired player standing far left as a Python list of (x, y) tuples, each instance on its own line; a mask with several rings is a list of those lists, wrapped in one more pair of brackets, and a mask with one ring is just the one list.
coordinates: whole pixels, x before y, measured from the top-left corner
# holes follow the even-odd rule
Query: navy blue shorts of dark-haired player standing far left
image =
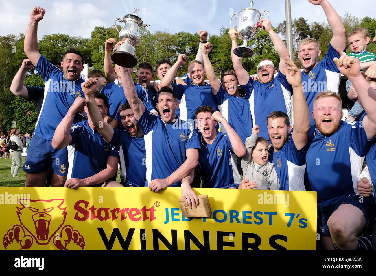
[(24, 172), (38, 173), (53, 170), (54, 173), (61, 176), (67, 176), (68, 173), (68, 150), (55, 149), (52, 147), (52, 141), (33, 136), (22, 170)]

